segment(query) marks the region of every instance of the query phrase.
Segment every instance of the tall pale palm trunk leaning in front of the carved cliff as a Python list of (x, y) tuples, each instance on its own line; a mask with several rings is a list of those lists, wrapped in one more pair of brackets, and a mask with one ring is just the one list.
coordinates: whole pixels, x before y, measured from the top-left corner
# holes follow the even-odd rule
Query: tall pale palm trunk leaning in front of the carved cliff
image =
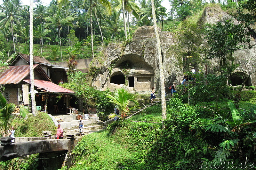
[[(163, 68), (163, 62), (162, 62), (160, 38), (159, 38), (157, 25), (156, 25), (156, 11), (155, 11), (154, 0), (151, 0), (151, 5), (152, 5), (152, 16), (153, 16), (154, 31), (155, 31), (155, 35), (156, 35), (156, 48), (157, 48), (158, 67), (159, 67), (159, 74), (160, 74), (162, 119), (164, 121), (166, 119), (166, 102), (165, 102), (165, 93), (164, 93), (164, 68)], [(163, 129), (164, 128), (165, 128), (165, 125), (164, 125), (164, 122), (163, 122)]]

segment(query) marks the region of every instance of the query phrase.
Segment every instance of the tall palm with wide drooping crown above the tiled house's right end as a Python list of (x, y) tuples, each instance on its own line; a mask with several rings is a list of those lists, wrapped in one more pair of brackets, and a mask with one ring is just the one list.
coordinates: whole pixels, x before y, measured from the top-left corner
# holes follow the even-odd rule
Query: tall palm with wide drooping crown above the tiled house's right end
[(56, 10), (56, 13), (55, 13), (55, 15), (52, 16), (52, 18), (45, 17), (45, 20), (50, 22), (47, 25), (53, 25), (58, 29), (59, 38), (60, 38), (60, 55), (61, 55), (62, 61), (63, 61), (63, 58), (62, 58), (60, 30), (62, 29), (62, 26), (64, 26), (64, 25), (72, 26), (73, 24), (70, 21), (72, 21), (73, 19), (74, 19), (73, 17), (63, 18), (63, 15), (62, 15), (60, 9)]

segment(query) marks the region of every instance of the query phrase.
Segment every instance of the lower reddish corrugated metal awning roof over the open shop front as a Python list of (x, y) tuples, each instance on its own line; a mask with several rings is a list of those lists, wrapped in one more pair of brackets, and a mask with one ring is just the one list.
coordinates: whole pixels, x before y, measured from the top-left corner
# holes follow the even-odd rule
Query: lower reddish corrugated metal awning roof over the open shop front
[[(23, 80), (30, 84), (30, 80), (26, 79)], [(74, 93), (74, 91), (61, 87), (57, 84), (52, 83), (51, 81), (44, 81), (44, 80), (34, 80), (34, 85), (37, 89), (45, 92), (52, 92), (52, 93)]]

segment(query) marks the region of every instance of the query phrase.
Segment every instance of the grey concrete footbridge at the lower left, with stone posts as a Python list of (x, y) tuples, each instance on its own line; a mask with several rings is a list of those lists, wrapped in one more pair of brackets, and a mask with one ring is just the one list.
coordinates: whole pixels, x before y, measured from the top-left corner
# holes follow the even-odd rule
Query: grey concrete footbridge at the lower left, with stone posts
[[(15, 138), (15, 143), (11, 143), (10, 137), (0, 138), (0, 161), (17, 157), (39, 153), (39, 167), (47, 170), (57, 170), (61, 168), (63, 162), (71, 164), (71, 159), (67, 160), (67, 155), (83, 136), (74, 136), (70, 139), (52, 139), (55, 137), (25, 137)], [(9, 142), (9, 143), (8, 143)], [(66, 166), (67, 166), (66, 165)]]

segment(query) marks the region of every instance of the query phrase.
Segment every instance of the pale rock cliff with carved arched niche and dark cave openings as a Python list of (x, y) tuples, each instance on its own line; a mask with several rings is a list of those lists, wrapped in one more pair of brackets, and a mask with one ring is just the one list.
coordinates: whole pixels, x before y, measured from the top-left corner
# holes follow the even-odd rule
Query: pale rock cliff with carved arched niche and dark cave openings
[[(171, 32), (159, 31), (164, 77), (166, 86), (183, 79), (182, 67), (172, 54), (168, 53), (173, 45)], [(111, 44), (104, 50), (101, 63), (94, 60), (93, 65), (100, 68), (92, 85), (105, 90), (107, 87), (126, 88), (130, 92), (148, 92), (153, 86), (159, 88), (159, 69), (156, 54), (156, 39), (152, 26), (139, 27), (132, 42), (122, 47)]]

